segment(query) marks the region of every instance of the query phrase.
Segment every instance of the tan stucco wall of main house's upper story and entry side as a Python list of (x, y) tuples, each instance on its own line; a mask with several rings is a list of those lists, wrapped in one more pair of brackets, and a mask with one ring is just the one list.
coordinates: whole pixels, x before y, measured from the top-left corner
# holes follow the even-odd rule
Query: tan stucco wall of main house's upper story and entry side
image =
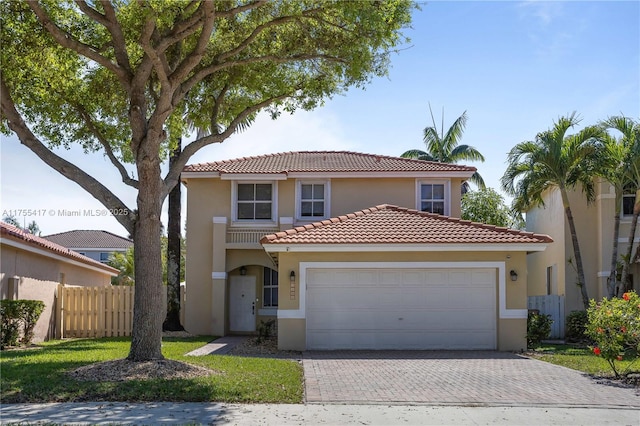
[[(450, 208), (454, 217), (460, 215), (461, 182), (461, 179), (452, 179), (451, 182)], [(295, 218), (296, 179), (276, 181), (276, 184), (276, 222), (281, 217)], [(416, 207), (415, 178), (331, 179), (330, 185), (330, 216), (385, 203), (407, 208)], [(372, 185), (375, 185), (375, 191), (371, 191)], [(274, 266), (269, 255), (262, 249), (229, 250), (226, 247), (226, 229), (239, 225), (233, 223), (231, 214), (233, 181), (218, 178), (188, 179), (186, 187), (188, 225), (184, 326), (194, 334), (221, 335), (228, 331), (228, 274), (234, 273), (243, 265)], [(214, 217), (226, 218), (226, 223), (214, 224)], [(274, 223), (279, 228), (290, 228), (297, 224)], [(260, 225), (255, 227), (261, 228)], [(289, 271), (283, 269), (282, 265), (280, 268)], [(214, 278), (214, 275), (217, 278)], [(289, 285), (288, 272), (281, 272), (280, 278), (286, 280), (286, 285)], [(260, 280), (258, 286), (257, 294), (260, 294)], [(295, 300), (285, 300), (285, 295), (283, 292), (281, 303), (297, 303)]]

